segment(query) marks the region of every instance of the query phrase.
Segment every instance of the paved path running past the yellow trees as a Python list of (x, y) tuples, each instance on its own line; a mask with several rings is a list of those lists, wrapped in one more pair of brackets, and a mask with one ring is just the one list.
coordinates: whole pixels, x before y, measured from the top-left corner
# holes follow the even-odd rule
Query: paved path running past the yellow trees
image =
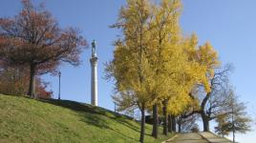
[(214, 133), (178, 133), (165, 143), (231, 143)]

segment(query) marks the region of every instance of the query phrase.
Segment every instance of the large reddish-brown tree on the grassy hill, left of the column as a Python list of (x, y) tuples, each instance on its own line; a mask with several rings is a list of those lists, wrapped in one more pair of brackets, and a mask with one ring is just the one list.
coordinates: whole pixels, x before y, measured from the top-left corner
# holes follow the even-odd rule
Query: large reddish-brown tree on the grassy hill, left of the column
[(23, 0), (14, 18), (0, 18), (0, 60), (30, 67), (28, 94), (34, 94), (35, 75), (53, 72), (63, 61), (79, 64), (85, 40), (74, 28), (61, 29), (52, 14)]

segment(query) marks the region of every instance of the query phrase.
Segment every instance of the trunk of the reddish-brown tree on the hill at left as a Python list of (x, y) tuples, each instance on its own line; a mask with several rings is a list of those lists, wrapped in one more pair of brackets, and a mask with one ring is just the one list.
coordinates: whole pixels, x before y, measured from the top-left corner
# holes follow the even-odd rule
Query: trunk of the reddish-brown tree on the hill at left
[(35, 97), (35, 66), (31, 64), (30, 87), (28, 95)]

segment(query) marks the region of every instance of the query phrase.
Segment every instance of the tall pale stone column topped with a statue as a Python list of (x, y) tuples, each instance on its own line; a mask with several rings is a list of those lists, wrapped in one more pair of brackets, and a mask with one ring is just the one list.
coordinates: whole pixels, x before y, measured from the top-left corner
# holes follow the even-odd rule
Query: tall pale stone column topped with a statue
[(91, 104), (97, 106), (97, 57), (96, 57), (96, 41), (92, 42), (92, 57), (90, 58), (92, 75), (91, 75)]

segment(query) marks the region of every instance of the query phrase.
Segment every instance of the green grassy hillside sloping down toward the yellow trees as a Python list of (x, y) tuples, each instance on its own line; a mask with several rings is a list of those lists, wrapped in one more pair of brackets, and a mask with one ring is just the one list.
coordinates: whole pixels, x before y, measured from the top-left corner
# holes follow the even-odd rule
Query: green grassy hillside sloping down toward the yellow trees
[[(155, 139), (151, 131), (146, 125), (145, 142), (172, 136)], [(0, 142), (133, 143), (139, 142), (139, 122), (74, 101), (0, 94)]]

